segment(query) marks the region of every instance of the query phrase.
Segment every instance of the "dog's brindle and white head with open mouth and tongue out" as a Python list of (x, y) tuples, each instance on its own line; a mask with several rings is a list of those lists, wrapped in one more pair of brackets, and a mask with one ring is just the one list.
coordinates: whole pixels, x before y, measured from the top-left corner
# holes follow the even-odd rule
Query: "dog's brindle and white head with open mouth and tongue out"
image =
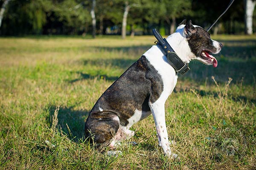
[[(197, 59), (206, 65), (217, 67), (218, 62), (212, 54), (218, 54), (221, 51), (222, 44), (212, 40), (209, 32), (200, 26), (193, 26), (191, 20), (183, 20), (178, 26), (182, 36), (186, 38), (190, 49), (190, 59)], [(178, 30), (177, 28), (177, 30)]]

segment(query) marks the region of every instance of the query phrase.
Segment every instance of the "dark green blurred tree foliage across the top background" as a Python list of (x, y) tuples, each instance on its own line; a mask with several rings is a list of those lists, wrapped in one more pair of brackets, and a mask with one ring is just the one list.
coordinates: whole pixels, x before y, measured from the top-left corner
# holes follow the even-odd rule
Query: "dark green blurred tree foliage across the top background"
[[(126, 2), (129, 5), (127, 34), (135, 31), (151, 34), (152, 28), (169, 34), (183, 19), (192, 19), (193, 23), (207, 28), (229, 3), (223, 0), (96, 0), (96, 34), (121, 34)], [(2, 4), (3, 0), (0, 6)], [(91, 34), (91, 6), (91, 0), (11, 0), (3, 16), (0, 35)], [(243, 6), (243, 1), (233, 3), (216, 25), (218, 32), (244, 31)]]

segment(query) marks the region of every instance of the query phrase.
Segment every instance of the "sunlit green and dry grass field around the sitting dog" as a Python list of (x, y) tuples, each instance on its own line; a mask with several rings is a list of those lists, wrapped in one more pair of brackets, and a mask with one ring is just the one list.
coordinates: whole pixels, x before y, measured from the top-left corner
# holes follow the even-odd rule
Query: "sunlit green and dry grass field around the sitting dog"
[(153, 36), (0, 38), (0, 169), (256, 169), (256, 37), (213, 38), (224, 44), (218, 67), (191, 62), (166, 102), (175, 161), (152, 116), (121, 156), (83, 139), (93, 104)]

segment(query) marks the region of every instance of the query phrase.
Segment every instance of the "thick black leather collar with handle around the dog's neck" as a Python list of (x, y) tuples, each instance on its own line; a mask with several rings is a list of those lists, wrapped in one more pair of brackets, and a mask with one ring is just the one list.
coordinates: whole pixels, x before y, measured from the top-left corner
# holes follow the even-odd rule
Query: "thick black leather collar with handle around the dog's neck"
[(175, 71), (179, 74), (185, 74), (190, 70), (188, 63), (183, 62), (180, 57), (175, 53), (172, 49), (171, 45), (167, 42), (165, 38), (161, 36), (157, 29), (153, 29), (153, 34), (157, 38), (155, 42), (157, 47), (162, 51), (162, 53), (166, 56), (170, 65), (175, 69)]

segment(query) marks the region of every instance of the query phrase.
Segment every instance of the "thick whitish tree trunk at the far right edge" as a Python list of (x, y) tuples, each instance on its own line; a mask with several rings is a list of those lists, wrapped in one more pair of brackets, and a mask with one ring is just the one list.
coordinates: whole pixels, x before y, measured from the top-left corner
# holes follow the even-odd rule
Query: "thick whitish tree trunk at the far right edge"
[(256, 1), (244, 0), (244, 21), (245, 21), (245, 34), (253, 34), (253, 11)]

